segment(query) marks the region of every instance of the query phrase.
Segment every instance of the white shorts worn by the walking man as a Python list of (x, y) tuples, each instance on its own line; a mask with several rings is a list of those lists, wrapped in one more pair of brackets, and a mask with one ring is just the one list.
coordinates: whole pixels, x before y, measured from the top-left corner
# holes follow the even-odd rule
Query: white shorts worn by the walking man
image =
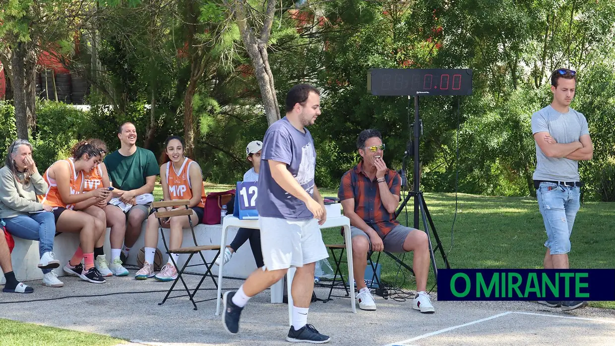
[(259, 218), (263, 262), (268, 270), (303, 267), (329, 257), (317, 219)]

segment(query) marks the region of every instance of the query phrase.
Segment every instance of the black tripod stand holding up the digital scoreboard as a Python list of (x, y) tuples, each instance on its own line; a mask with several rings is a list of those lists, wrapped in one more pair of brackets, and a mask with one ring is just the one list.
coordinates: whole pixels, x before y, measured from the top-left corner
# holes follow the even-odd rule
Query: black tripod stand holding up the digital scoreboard
[[(444, 251), (444, 248), (442, 246), (442, 242), (440, 242), (440, 237), (438, 237), (438, 232), (435, 230), (435, 226), (434, 226), (434, 221), (431, 218), (431, 214), (429, 214), (429, 209), (427, 208), (427, 203), (425, 202), (425, 198), (423, 197), (423, 191), (421, 191), (421, 170), (419, 169), (419, 138), (421, 136), (421, 120), (419, 119), (419, 96), (414, 96), (415, 97), (415, 122), (413, 125), (413, 132), (414, 132), (414, 143), (411, 145), (408, 145), (407, 150), (404, 152), (404, 156), (403, 156), (403, 162), (402, 162), (402, 171), (401, 171), (401, 175), (402, 175), (402, 186), (406, 187), (407, 183), (406, 183), (406, 179), (405, 179), (405, 172), (406, 172), (406, 158), (408, 156), (410, 156), (410, 151), (414, 152), (414, 165), (415, 165), (415, 171), (414, 171), (414, 189), (413, 191), (409, 191), (408, 195), (406, 196), (406, 198), (403, 200), (402, 205), (397, 209), (397, 211), (395, 211), (395, 218), (397, 218), (399, 216), (400, 213), (402, 213), (403, 208), (405, 208), (406, 204), (408, 203), (408, 201), (410, 200), (410, 197), (414, 197), (414, 203), (415, 203), (415, 212), (414, 212), (414, 225), (413, 227), (415, 227), (416, 229), (419, 229), (419, 212), (422, 216), (423, 219), (423, 226), (425, 229), (425, 232), (427, 233), (427, 240), (429, 243), (429, 256), (431, 258), (431, 264), (432, 267), (434, 269), (434, 276), (435, 276), (435, 280), (438, 280), (438, 267), (435, 264), (435, 255), (434, 255), (434, 248), (432, 246), (431, 243), (431, 235), (429, 234), (429, 227), (431, 227), (432, 232), (434, 233), (434, 237), (435, 237), (435, 242), (436, 242), (436, 250), (440, 250), (440, 253), (442, 253), (442, 259), (444, 260), (444, 264), (446, 265), (446, 269), (450, 269), (450, 264), (448, 264), (448, 259), (446, 258), (446, 253)], [(410, 96), (408, 96), (408, 117), (410, 117)], [(427, 224), (427, 222), (429, 222), (429, 225)], [(414, 270), (412, 270), (410, 268), (409, 265), (403, 263), (399, 258), (397, 258), (397, 256), (395, 256), (394, 254), (388, 253), (385, 251), (385, 253), (395, 259), (395, 261), (397, 263), (399, 263), (400, 265), (403, 265), (403, 267), (405, 267), (406, 269), (410, 270), (411, 273), (413, 273), (413, 275), (415, 275)]]

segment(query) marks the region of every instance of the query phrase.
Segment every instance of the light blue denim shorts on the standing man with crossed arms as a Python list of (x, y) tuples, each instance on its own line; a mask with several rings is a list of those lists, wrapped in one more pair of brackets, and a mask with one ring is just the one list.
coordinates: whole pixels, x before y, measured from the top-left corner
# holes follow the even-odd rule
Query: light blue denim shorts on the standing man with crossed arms
[(536, 197), (547, 232), (544, 246), (550, 249), (550, 254), (569, 253), (574, 218), (581, 206), (581, 189), (578, 186), (540, 183)]

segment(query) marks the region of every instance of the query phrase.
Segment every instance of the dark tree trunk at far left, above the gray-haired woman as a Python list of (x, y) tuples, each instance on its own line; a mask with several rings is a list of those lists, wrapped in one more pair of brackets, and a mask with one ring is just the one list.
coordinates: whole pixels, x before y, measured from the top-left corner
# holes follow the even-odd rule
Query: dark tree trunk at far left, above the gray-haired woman
[(26, 44), (18, 42), (12, 49), (11, 79), (13, 98), (15, 104), (15, 123), (17, 125), (17, 137), (28, 140), (28, 109), (26, 108)]

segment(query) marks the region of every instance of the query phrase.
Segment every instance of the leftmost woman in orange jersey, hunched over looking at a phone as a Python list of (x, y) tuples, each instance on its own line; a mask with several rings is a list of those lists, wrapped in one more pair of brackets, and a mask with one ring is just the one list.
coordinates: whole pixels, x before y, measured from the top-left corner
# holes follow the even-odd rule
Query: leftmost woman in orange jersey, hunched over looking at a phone
[[(105, 229), (103, 223), (86, 213), (88, 208), (105, 200), (111, 193), (101, 187), (83, 192), (84, 171), (89, 172), (100, 160), (100, 150), (87, 141), (73, 147), (73, 157), (59, 160), (47, 168), (43, 178), (49, 185), (40, 198), (43, 204), (53, 208), (55, 227), (58, 232), (79, 233), (80, 246), (64, 271), (92, 283), (104, 283), (105, 278), (94, 267), (94, 244)], [(84, 265), (81, 260), (84, 259)]]

